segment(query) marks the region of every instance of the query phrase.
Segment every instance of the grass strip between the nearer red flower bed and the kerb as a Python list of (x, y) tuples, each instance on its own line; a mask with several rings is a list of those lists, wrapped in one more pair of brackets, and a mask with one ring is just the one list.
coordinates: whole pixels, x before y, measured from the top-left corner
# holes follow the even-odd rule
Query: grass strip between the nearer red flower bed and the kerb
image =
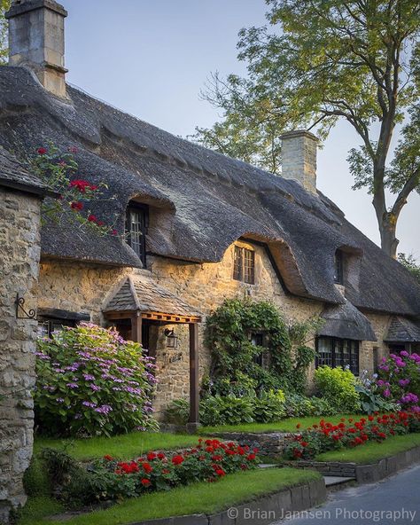
[[(199, 482), (167, 492), (146, 494), (132, 498), (113, 507), (83, 514), (65, 521), (68, 525), (121, 525), (145, 520), (182, 516), (195, 513), (217, 513), (230, 506), (239, 505), (253, 498), (284, 490), (305, 482), (314, 481), (320, 474), (293, 468), (266, 468), (237, 474), (229, 474), (216, 483)], [(63, 521), (51, 520), (42, 509), (30, 515), (24, 510), (19, 525), (63, 525)]]

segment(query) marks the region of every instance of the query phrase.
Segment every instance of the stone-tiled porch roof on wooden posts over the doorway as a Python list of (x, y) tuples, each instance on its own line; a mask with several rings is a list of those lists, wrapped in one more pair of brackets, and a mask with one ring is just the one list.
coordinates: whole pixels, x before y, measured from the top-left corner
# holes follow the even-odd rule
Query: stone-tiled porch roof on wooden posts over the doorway
[(107, 303), (104, 313), (123, 311), (159, 312), (183, 317), (201, 313), (148, 276), (125, 278), (119, 291)]

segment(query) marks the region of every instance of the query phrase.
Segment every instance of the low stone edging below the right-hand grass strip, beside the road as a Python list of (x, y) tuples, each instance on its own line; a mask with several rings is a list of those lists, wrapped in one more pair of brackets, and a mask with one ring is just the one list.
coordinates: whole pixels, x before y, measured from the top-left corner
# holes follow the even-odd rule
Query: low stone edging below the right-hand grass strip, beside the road
[(310, 468), (323, 475), (354, 477), (356, 482), (378, 482), (385, 477), (420, 462), (420, 446), (398, 452), (394, 456), (379, 459), (376, 463), (358, 464), (340, 461), (289, 460), (283, 465), (293, 468)]

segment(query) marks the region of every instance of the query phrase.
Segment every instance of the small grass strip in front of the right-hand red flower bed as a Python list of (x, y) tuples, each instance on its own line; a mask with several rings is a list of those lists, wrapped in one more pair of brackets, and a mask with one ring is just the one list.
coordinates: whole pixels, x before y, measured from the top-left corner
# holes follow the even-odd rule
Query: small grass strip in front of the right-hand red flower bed
[(381, 443), (365, 443), (354, 449), (323, 452), (316, 456), (316, 461), (343, 461), (369, 465), (382, 458), (389, 458), (398, 452), (408, 451), (420, 445), (420, 434), (393, 435)]

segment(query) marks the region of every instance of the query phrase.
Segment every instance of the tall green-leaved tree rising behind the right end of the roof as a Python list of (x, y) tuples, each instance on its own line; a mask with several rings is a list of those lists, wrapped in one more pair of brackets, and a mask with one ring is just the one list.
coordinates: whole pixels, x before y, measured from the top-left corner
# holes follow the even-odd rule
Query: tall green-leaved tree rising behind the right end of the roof
[(401, 209), (420, 188), (420, 3), (266, 2), (268, 26), (239, 33), (247, 76), (213, 75), (204, 96), (224, 117), (196, 139), (278, 173), (284, 130), (305, 127), (325, 138), (346, 120), (360, 137), (348, 159), (354, 188), (372, 193), (381, 245), (395, 257)]

